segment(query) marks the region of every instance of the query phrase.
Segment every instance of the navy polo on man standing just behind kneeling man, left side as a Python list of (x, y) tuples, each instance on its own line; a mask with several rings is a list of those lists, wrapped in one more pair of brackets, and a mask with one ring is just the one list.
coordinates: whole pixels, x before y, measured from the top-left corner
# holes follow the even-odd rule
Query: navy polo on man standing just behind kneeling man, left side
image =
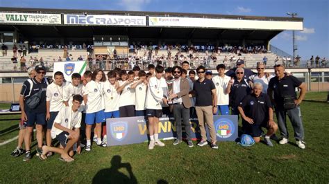
[(237, 107), (242, 99), (251, 92), (246, 79), (234, 80), (230, 87), (230, 107)]

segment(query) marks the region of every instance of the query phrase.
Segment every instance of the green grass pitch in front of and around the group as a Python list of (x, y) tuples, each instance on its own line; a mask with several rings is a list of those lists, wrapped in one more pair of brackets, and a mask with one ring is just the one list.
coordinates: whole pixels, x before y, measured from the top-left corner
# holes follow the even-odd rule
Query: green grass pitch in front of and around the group
[[(25, 163), (23, 156), (10, 156), (17, 144), (13, 141), (0, 147), (0, 183), (328, 183), (326, 100), (326, 92), (307, 93), (301, 104), (305, 150), (296, 147), (290, 124), (291, 143), (287, 145), (273, 142), (274, 147), (262, 143), (241, 147), (235, 142), (220, 142), (214, 150), (174, 146), (167, 140), (165, 147), (151, 151), (146, 143), (94, 146), (92, 151), (74, 156), (73, 163), (62, 163), (58, 154), (44, 161), (33, 156)], [(0, 104), (0, 108), (6, 107), (8, 104)], [(0, 121), (0, 142), (17, 136), (17, 122)]]

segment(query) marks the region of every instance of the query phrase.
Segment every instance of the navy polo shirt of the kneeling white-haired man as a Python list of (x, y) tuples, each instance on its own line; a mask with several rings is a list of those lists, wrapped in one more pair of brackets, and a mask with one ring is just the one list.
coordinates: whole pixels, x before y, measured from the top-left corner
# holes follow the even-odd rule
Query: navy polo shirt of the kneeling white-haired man
[(264, 125), (269, 121), (269, 108), (272, 107), (269, 96), (260, 93), (259, 97), (249, 94), (239, 103), (239, 107), (244, 109), (244, 114), (253, 119), (255, 125)]

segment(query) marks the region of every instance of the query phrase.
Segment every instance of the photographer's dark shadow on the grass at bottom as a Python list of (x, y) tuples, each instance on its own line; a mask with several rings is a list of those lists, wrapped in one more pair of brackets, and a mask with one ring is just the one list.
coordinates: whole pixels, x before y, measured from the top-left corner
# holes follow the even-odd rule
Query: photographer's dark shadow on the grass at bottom
[[(129, 176), (119, 172), (120, 168), (125, 168)], [(97, 172), (92, 183), (137, 183), (137, 179), (130, 163), (121, 163), (121, 156), (116, 155), (112, 157), (111, 167)]]

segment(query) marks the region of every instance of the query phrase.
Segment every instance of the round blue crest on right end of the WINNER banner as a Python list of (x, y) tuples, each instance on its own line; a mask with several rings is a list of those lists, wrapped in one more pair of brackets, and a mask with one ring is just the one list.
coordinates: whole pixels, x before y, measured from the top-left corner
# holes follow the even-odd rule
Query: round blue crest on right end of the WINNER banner
[(217, 121), (219, 122), (217, 124), (215, 122), (214, 124), (216, 125), (216, 135), (219, 138), (229, 138), (230, 136), (233, 136), (235, 127), (231, 120), (223, 118)]

